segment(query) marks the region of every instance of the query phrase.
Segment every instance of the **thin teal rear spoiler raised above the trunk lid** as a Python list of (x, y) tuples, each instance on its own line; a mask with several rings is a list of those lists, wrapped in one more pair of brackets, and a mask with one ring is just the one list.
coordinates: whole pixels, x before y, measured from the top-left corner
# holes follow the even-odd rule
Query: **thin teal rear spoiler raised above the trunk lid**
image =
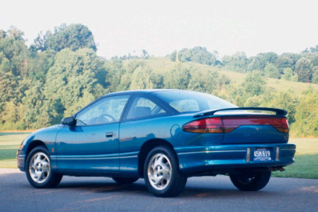
[(197, 117), (202, 117), (202, 116), (211, 116), (211, 115), (214, 115), (214, 113), (216, 113), (218, 111), (224, 111), (224, 110), (272, 111), (272, 112), (276, 112), (276, 115), (280, 115), (280, 116), (287, 115), (286, 110), (281, 110), (281, 109), (277, 109), (277, 108), (259, 108), (259, 107), (246, 107), (245, 108), (245, 107), (242, 107), (242, 108), (223, 108), (223, 109), (218, 109), (218, 110), (204, 110), (204, 111), (201, 111), (201, 112), (194, 114), (193, 117), (197, 118)]

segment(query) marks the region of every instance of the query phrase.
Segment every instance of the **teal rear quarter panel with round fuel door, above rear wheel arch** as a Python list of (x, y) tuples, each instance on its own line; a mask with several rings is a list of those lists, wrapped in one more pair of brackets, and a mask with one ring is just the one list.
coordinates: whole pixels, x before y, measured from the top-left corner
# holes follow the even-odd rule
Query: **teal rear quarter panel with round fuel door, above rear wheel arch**
[(163, 139), (173, 147), (222, 144), (223, 134), (197, 134), (182, 131), (183, 124), (192, 120), (191, 115), (183, 114), (121, 122), (120, 171), (137, 173), (139, 151), (145, 142), (152, 139)]

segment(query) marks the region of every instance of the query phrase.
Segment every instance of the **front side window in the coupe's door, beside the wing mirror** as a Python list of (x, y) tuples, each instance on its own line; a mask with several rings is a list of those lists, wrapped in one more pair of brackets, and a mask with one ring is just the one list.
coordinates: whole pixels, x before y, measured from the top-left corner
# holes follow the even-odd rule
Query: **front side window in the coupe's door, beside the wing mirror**
[(118, 122), (129, 95), (103, 98), (76, 115), (76, 126)]

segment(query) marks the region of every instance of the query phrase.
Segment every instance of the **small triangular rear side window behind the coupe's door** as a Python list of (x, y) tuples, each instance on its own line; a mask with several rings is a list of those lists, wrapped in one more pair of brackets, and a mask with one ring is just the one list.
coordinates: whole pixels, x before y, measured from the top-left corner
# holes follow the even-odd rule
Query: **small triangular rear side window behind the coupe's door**
[(145, 97), (136, 97), (132, 102), (126, 119), (156, 116), (166, 113), (159, 105)]

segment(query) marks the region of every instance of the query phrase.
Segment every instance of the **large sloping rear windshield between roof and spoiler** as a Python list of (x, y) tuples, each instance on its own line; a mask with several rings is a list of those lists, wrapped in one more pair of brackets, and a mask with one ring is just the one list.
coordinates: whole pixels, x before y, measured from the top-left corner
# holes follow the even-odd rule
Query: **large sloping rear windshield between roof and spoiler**
[(180, 113), (237, 107), (216, 96), (194, 91), (159, 91), (154, 92), (153, 95), (167, 102)]

